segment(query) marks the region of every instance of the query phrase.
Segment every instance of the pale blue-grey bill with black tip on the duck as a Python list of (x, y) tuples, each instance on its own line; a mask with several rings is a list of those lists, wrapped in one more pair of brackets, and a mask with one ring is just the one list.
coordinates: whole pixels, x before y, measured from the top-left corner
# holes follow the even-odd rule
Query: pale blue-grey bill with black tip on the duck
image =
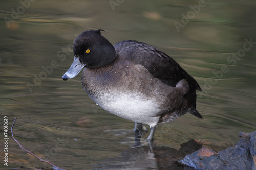
[(74, 57), (74, 61), (69, 70), (62, 76), (63, 80), (68, 80), (76, 77), (76, 75), (86, 66), (79, 61), (78, 57)]

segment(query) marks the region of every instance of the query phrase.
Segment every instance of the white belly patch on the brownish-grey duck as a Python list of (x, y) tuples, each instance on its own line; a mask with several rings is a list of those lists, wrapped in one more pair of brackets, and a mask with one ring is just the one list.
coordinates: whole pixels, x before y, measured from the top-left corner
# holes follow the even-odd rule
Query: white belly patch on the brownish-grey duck
[[(114, 94), (114, 95), (113, 95)], [(116, 95), (115, 95), (116, 94)], [(91, 97), (92, 98), (92, 97)], [(96, 104), (117, 116), (134, 122), (155, 126), (161, 111), (154, 98), (148, 99), (143, 94), (122, 92), (104, 93), (98, 98), (92, 98)]]

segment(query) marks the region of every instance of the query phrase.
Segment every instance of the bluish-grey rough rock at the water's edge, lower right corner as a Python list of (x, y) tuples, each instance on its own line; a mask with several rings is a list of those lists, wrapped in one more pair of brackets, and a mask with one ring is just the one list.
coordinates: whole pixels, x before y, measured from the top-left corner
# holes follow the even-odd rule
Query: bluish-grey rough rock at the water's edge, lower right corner
[(179, 163), (195, 169), (252, 169), (256, 170), (256, 131), (240, 132), (241, 140), (220, 152), (203, 147), (187, 155)]

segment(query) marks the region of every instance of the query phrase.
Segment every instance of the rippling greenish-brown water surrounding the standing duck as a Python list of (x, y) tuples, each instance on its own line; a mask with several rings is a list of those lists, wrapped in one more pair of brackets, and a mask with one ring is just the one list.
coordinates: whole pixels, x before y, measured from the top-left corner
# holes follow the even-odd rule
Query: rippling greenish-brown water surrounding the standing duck
[[(14, 135), (20, 144), (65, 169), (183, 169), (173, 167), (185, 155), (178, 151), (182, 143), (196, 139), (217, 151), (232, 146), (240, 131), (256, 129), (256, 3), (205, 2), (200, 7), (198, 1), (119, 1), (116, 6), (109, 1), (35, 1), (28, 8), (18, 1), (3, 2), (1, 128), (4, 116), (9, 130), (18, 117)], [(11, 21), (9, 27), (4, 17)], [(153, 154), (144, 142), (148, 134), (142, 139), (145, 146), (133, 149), (133, 122), (97, 106), (81, 86), (81, 73), (61, 79), (73, 61), (75, 37), (89, 29), (104, 29), (112, 44), (138, 40), (172, 56), (204, 89), (197, 102), (204, 119), (188, 113), (159, 125)], [(51, 168), (20, 149), (10, 131), (8, 135), (9, 164), (2, 161), (1, 168)]]

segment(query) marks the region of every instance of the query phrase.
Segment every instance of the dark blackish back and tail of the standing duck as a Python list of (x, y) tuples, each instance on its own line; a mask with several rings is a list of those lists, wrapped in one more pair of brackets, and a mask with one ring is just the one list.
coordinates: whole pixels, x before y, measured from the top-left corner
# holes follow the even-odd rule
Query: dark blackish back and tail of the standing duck
[(132, 60), (136, 64), (142, 65), (153, 77), (169, 86), (175, 87), (180, 80), (185, 79), (190, 89), (186, 96), (187, 105), (190, 108), (188, 111), (202, 118), (196, 111), (196, 90), (201, 91), (202, 89), (197, 81), (181, 68), (172, 57), (154, 46), (132, 40), (118, 42), (114, 45), (114, 48), (118, 57)]

